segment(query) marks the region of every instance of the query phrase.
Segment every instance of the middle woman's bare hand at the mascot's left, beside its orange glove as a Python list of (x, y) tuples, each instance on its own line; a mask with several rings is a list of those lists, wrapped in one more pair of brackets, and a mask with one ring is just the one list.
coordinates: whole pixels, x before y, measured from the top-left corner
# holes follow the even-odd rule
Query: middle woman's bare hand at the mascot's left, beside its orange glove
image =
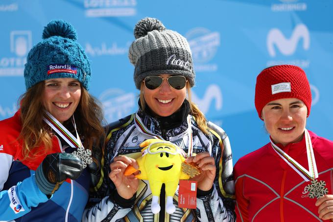
[(129, 165), (139, 169), (137, 161), (127, 156), (117, 156), (110, 164), (111, 173), (109, 173), (109, 177), (115, 184), (119, 196), (125, 199), (133, 197), (139, 186), (139, 180), (135, 177), (135, 174), (139, 172), (129, 176), (124, 175), (125, 169)]

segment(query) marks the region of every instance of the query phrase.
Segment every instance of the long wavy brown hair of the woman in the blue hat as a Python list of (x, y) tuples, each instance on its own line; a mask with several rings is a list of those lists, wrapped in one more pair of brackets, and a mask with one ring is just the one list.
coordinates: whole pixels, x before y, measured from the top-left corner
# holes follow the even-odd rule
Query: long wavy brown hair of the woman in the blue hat
[[(22, 154), (24, 158), (44, 154), (52, 148), (52, 134), (43, 121), (44, 106), (42, 103), (45, 83), (37, 83), (29, 88), (19, 99), (21, 109), (22, 130), (19, 138), (23, 140)], [(97, 100), (81, 85), (80, 102), (74, 112), (78, 133), (83, 135), (85, 148), (92, 149), (94, 142), (105, 136), (101, 125), (103, 112)], [(80, 121), (82, 120), (82, 121)], [(64, 125), (71, 122), (65, 121)], [(43, 153), (35, 153), (35, 148), (44, 145)]]

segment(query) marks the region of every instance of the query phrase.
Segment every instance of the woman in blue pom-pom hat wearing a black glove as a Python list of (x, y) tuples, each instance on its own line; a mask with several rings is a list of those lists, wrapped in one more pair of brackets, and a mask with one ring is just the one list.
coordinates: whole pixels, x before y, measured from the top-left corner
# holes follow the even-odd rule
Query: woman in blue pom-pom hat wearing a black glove
[(74, 28), (51, 21), (43, 39), (27, 56), (19, 111), (0, 121), (0, 221), (81, 221), (86, 166), (104, 135)]

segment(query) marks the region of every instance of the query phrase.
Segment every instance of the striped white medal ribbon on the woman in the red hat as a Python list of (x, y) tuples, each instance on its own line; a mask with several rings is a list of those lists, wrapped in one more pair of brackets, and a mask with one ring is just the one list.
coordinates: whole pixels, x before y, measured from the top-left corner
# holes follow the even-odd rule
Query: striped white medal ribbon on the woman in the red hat
[(273, 141), (269, 138), (272, 148), (275, 150), (277, 154), (294, 170), (298, 173), (305, 181), (314, 180), (318, 178), (318, 171), (316, 161), (314, 159), (313, 148), (311, 143), (311, 138), (307, 129), (304, 131), (305, 136), (305, 144), (307, 148), (307, 157), (308, 157), (308, 165), (309, 171), (306, 170), (303, 166), (301, 166), (296, 160), (291, 158), (288, 154), (286, 154), (282, 149), (276, 146)]

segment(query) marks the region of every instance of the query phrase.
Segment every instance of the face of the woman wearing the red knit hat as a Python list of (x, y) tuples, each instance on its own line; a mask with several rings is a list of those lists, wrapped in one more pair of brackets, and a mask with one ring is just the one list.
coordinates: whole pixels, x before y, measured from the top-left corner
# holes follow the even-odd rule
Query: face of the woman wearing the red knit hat
[(263, 107), (262, 119), (274, 143), (285, 146), (302, 140), (307, 113), (307, 106), (300, 99), (277, 99)]

